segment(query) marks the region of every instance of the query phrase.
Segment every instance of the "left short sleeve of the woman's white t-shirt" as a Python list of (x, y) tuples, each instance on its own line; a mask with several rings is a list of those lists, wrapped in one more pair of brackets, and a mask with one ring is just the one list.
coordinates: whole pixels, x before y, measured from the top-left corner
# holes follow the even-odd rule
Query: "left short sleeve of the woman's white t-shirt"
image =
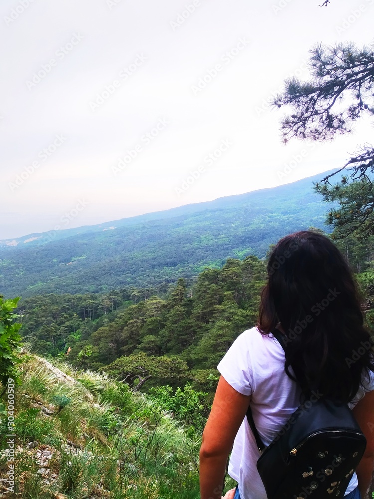
[(248, 331), (240, 334), (217, 366), (229, 385), (242, 395), (252, 394), (252, 366), (248, 349)]

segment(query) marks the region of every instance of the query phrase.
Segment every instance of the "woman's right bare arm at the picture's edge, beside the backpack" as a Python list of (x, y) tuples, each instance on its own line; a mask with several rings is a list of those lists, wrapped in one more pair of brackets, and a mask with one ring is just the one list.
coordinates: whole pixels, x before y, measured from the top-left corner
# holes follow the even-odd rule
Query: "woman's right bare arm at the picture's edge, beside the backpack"
[(374, 467), (374, 390), (367, 392), (352, 412), (367, 440), (364, 455), (356, 468), (360, 494), (365, 498)]

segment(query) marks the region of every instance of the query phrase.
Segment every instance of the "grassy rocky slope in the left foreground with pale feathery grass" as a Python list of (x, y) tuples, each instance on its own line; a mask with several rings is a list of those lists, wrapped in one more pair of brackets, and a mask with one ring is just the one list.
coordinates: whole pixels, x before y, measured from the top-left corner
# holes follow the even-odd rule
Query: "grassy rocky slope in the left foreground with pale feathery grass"
[[(199, 498), (197, 447), (187, 429), (157, 404), (105, 374), (80, 373), (79, 383), (71, 385), (57, 381), (33, 355), (24, 367), (15, 394), (16, 444), (23, 447), (16, 454), (15, 497)], [(70, 374), (69, 366), (63, 367)], [(54, 414), (42, 415), (42, 406)], [(0, 434), (4, 423), (1, 413)], [(34, 440), (38, 446), (28, 450)], [(76, 447), (67, 446), (67, 440)], [(6, 447), (0, 440), (0, 451)], [(36, 452), (51, 447), (52, 459), (37, 463)], [(57, 475), (55, 481), (48, 483), (38, 473), (42, 466)], [(0, 453), (0, 475), (8, 471)], [(3, 492), (0, 485), (0, 496)]]

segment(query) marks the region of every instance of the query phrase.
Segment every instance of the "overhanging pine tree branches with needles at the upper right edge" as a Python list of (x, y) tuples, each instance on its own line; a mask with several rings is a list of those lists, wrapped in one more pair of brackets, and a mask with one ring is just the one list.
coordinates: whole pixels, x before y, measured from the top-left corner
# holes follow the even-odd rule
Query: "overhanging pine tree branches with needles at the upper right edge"
[[(357, 48), (353, 43), (333, 47), (318, 45), (311, 50), (312, 80), (285, 81), (285, 90), (274, 99), (278, 107), (290, 106), (291, 114), (281, 122), (283, 140), (324, 141), (352, 133), (361, 117), (374, 115), (374, 45)], [(335, 237), (349, 234), (365, 240), (374, 234), (374, 148), (360, 146), (344, 166), (315, 183), (322, 198), (335, 203), (326, 222), (336, 228)], [(349, 175), (331, 183), (331, 177), (347, 169)]]

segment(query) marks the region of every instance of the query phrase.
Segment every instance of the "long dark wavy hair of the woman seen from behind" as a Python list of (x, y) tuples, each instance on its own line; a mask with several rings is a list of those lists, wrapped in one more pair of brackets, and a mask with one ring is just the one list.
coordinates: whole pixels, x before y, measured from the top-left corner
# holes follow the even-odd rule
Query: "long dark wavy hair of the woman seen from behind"
[(268, 264), (258, 329), (285, 332), (285, 371), (302, 392), (349, 402), (374, 371), (373, 341), (363, 324), (351, 270), (329, 238), (300, 231), (282, 238)]

